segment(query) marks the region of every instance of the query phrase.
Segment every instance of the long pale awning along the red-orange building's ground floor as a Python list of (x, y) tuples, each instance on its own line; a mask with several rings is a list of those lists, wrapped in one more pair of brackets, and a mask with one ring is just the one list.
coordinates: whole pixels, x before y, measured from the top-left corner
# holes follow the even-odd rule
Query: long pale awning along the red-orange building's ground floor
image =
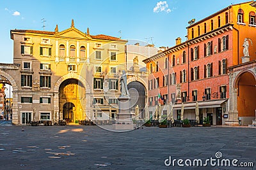
[[(212, 101), (198, 101), (199, 108), (219, 108), (221, 104), (227, 99), (212, 100)], [(196, 102), (184, 103), (184, 110), (193, 110), (196, 108)], [(173, 110), (181, 110), (181, 103), (174, 104)]]

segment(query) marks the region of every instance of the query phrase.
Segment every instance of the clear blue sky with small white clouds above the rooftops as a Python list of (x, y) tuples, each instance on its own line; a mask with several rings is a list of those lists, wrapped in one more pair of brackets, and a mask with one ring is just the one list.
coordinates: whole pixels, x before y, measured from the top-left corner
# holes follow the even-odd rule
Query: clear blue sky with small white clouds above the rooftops
[(239, 0), (98, 0), (98, 1), (17, 1), (0, 0), (0, 62), (13, 62), (11, 29), (68, 29), (74, 19), (75, 27), (90, 34), (106, 34), (122, 39), (138, 39), (156, 46), (173, 46), (177, 37), (185, 40), (188, 21), (196, 21)]

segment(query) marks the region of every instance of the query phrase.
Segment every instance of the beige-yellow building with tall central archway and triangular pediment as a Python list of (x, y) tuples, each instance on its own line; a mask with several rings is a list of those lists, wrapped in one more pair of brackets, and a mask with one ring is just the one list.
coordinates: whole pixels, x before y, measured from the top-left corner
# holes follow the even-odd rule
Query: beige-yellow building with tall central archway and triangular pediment
[(13, 63), (0, 74), (13, 86), (13, 124), (115, 119), (127, 41), (74, 27), (11, 30)]

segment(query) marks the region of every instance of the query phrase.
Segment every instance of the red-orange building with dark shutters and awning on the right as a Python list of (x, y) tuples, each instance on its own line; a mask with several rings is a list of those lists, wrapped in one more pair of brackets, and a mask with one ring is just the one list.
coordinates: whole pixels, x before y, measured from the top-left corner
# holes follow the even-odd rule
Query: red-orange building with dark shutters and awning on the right
[(150, 115), (154, 115), (160, 101), (161, 114), (166, 116), (167, 104), (174, 104), (174, 119), (199, 119), (202, 124), (203, 118), (209, 117), (212, 125), (234, 125), (239, 119), (244, 125), (252, 123), (256, 106), (246, 106), (250, 110), (245, 112), (239, 111), (241, 104), (238, 111), (231, 107), (234, 86), (230, 86), (227, 68), (256, 59), (255, 16), (255, 3), (250, 1), (228, 6), (198, 22), (191, 20), (185, 42), (177, 38), (175, 46), (143, 60), (150, 72)]

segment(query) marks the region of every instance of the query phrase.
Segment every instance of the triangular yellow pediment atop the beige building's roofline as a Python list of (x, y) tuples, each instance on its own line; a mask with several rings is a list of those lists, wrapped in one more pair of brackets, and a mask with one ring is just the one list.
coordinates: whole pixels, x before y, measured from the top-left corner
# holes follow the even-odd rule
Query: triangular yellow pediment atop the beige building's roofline
[(71, 27), (70, 29), (66, 29), (64, 31), (58, 32), (55, 36), (62, 37), (62, 38), (92, 39), (90, 35), (79, 31), (75, 27)]

